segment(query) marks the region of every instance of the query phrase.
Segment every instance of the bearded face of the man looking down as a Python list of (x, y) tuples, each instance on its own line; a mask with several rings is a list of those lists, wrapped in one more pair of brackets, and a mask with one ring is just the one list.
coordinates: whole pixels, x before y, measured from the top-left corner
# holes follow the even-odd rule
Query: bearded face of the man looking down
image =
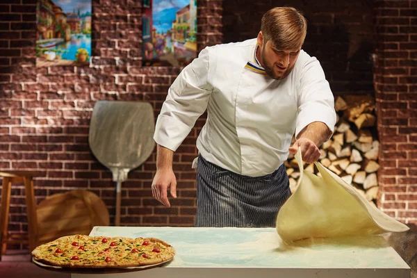
[(272, 79), (284, 79), (294, 68), (298, 55), (300, 54), (300, 48), (298, 49), (277, 49), (271, 41), (265, 43), (260, 49), (262, 65), (265, 68), (266, 74)]

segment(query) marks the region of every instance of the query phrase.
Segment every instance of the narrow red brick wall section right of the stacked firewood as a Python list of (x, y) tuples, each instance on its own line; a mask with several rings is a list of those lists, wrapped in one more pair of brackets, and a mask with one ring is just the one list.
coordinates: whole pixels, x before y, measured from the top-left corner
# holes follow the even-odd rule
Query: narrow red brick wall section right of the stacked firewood
[(417, 224), (417, 1), (375, 1), (379, 206)]

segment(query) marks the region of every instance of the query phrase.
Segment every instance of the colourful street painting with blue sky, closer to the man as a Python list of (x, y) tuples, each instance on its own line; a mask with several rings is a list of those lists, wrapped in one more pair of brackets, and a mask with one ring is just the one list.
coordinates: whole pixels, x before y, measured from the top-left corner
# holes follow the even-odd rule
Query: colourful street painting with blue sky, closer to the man
[(185, 66), (197, 57), (197, 0), (143, 0), (142, 61)]

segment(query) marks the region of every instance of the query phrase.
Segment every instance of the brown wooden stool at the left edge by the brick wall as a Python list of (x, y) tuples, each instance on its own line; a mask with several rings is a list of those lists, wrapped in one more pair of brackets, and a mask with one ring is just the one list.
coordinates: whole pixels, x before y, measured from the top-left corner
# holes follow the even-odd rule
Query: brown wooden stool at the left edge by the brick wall
[[(36, 220), (36, 203), (35, 194), (33, 193), (33, 177), (39, 176), (37, 171), (0, 171), (0, 177), (3, 177), (1, 190), (1, 207), (0, 207), (0, 260), (1, 254), (6, 252), (7, 243), (29, 245), (29, 251), (32, 252), (37, 246), (38, 222)], [(8, 238), (8, 213), (10, 206), (10, 192), (12, 183), (24, 183), (26, 195), (26, 209), (28, 215), (28, 237), (10, 237)]]

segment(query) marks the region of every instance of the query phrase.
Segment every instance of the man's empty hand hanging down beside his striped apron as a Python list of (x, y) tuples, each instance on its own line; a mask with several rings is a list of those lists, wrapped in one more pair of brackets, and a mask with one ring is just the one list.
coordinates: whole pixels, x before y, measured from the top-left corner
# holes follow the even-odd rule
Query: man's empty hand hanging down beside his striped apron
[(168, 200), (167, 191), (170, 188), (171, 196), (177, 198), (177, 179), (172, 169), (156, 170), (154, 181), (152, 182), (152, 195), (168, 208), (171, 206)]

